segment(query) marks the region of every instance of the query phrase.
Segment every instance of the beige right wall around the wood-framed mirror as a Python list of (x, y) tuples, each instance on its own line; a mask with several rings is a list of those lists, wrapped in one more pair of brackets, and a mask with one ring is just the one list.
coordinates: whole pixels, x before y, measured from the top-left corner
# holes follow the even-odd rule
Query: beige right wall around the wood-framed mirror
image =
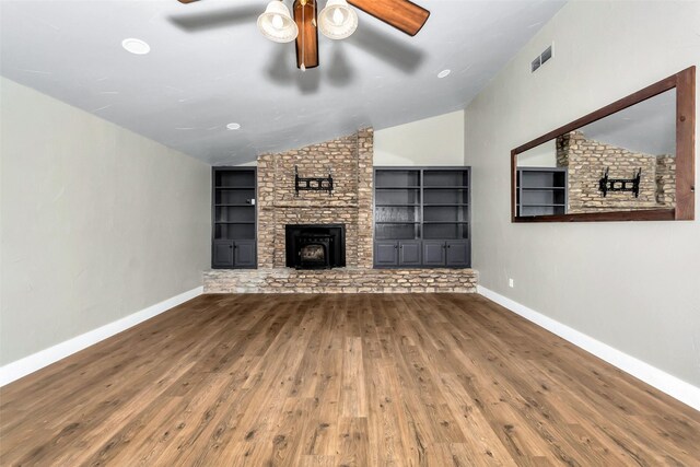
[(697, 66), (699, 24), (697, 1), (571, 1), (465, 113), (480, 283), (696, 386), (700, 223), (512, 224), (509, 165), (513, 148)]

